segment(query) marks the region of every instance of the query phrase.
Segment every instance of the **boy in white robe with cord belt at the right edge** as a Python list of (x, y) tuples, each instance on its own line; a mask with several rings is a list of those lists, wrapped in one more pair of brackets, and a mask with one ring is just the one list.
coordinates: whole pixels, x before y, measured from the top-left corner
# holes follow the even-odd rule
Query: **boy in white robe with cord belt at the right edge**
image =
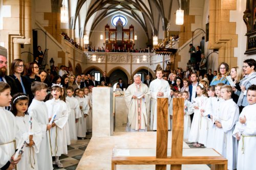
[(247, 89), (248, 106), (244, 107), (233, 131), (238, 143), (238, 170), (256, 169), (256, 85)]

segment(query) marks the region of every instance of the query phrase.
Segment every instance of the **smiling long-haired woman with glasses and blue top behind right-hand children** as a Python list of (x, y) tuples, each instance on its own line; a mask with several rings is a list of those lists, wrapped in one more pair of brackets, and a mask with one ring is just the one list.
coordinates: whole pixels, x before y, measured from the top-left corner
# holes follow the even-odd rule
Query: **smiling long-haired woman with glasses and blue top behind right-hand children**
[(217, 76), (215, 76), (212, 81), (210, 82), (210, 86), (217, 85), (218, 83), (224, 83), (229, 85), (226, 76), (228, 76), (230, 73), (229, 71), (229, 65), (225, 62), (222, 62), (217, 70)]

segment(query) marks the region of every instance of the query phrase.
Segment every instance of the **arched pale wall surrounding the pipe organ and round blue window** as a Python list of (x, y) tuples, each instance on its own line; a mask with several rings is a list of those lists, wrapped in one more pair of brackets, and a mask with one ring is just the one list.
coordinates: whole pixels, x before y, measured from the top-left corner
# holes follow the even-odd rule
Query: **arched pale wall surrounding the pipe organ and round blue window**
[[(107, 18), (102, 19), (101, 22), (99, 22), (99, 24), (95, 27), (95, 29), (93, 30), (94, 32), (91, 33), (91, 37), (90, 37), (90, 44), (92, 46), (95, 46), (96, 48), (98, 46), (104, 46), (103, 42), (104, 40), (100, 40), (100, 34), (103, 35), (103, 39), (104, 39), (104, 34), (105, 34), (105, 25), (108, 23), (108, 25), (110, 25), (110, 28), (113, 29), (115, 28), (114, 26), (112, 26), (111, 24), (111, 19), (114, 15), (113, 14), (111, 16), (108, 16)], [(124, 14), (122, 14), (124, 15)], [(129, 27), (131, 25), (134, 26), (134, 31), (135, 31), (135, 35), (137, 35), (137, 40), (135, 40), (135, 46), (134, 48), (144, 48), (146, 46), (146, 42), (147, 42), (147, 36), (145, 31), (142, 29), (142, 27), (139, 25), (139, 23), (137, 21), (135, 21), (134, 19), (132, 19), (131, 17), (124, 15), (127, 18), (127, 25), (124, 26), (124, 29), (129, 29)]]

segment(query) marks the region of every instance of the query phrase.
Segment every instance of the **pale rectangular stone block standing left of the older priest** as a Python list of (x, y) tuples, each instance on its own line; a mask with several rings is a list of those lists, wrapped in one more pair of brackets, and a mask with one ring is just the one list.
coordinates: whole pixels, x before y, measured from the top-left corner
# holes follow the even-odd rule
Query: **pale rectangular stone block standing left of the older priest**
[(93, 136), (111, 136), (114, 131), (113, 88), (93, 88)]

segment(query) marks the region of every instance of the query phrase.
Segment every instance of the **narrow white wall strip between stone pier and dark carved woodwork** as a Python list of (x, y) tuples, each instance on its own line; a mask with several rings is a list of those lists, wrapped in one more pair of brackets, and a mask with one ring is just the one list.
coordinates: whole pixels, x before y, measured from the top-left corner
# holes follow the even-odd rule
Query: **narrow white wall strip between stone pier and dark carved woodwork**
[[(237, 22), (237, 34), (238, 34), (238, 47), (234, 48), (234, 56), (238, 57), (238, 66), (243, 65), (245, 59), (253, 58), (256, 60), (256, 54), (254, 55), (245, 55), (246, 51), (246, 41), (247, 37), (245, 36), (247, 29), (243, 21), (243, 12), (246, 9), (245, 0), (237, 0), (237, 10), (230, 11), (230, 22)], [(238, 17), (240, 16), (240, 17)]]

